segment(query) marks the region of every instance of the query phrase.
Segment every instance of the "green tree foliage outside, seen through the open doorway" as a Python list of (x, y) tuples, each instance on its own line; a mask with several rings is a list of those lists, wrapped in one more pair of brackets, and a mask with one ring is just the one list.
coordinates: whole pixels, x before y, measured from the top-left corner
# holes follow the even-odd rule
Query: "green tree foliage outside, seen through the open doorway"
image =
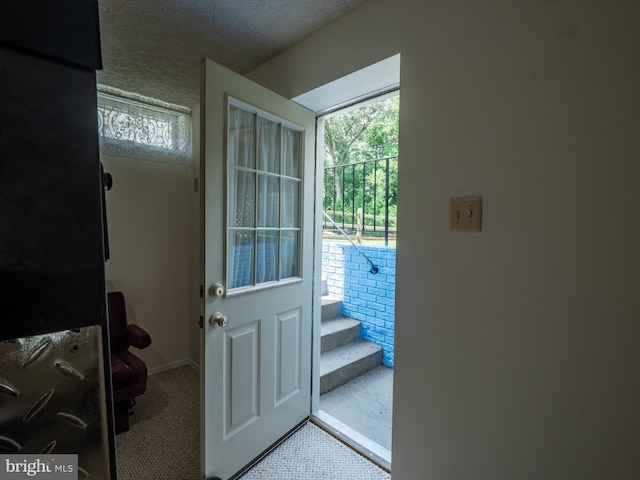
[(365, 229), (384, 229), (388, 208), (395, 229), (399, 104), (396, 95), (325, 121), (324, 208), (338, 223), (352, 225), (362, 208)]

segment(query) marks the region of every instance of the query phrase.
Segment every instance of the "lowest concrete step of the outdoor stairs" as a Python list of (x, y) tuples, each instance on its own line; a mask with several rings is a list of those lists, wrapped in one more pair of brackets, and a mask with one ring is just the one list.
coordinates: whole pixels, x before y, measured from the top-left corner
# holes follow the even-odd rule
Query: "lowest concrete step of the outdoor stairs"
[(320, 355), (320, 395), (382, 363), (382, 348), (357, 340)]

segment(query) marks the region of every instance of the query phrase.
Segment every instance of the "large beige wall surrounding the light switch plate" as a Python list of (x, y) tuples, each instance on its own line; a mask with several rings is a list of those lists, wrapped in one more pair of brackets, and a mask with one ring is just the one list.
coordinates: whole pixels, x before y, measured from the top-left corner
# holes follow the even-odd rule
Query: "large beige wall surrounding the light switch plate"
[(249, 75), (401, 53), (394, 480), (640, 478), (639, 5), (370, 0)]

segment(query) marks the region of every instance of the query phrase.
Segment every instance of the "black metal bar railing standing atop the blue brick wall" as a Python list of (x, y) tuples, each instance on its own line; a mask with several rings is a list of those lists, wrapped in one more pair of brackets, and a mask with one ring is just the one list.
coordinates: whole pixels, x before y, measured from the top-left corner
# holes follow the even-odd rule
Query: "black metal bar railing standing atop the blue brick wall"
[(325, 167), (323, 207), (336, 225), (357, 239), (384, 235), (384, 245), (389, 245), (389, 236), (397, 233), (396, 217), (389, 214), (396, 205), (391, 187), (397, 185), (397, 168), (390, 167), (397, 161), (389, 156)]

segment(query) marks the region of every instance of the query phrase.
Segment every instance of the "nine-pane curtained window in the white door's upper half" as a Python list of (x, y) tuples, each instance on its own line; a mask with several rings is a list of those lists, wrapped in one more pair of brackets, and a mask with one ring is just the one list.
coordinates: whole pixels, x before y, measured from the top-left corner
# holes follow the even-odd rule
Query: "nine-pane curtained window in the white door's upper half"
[(302, 133), (231, 100), (228, 290), (300, 276)]

